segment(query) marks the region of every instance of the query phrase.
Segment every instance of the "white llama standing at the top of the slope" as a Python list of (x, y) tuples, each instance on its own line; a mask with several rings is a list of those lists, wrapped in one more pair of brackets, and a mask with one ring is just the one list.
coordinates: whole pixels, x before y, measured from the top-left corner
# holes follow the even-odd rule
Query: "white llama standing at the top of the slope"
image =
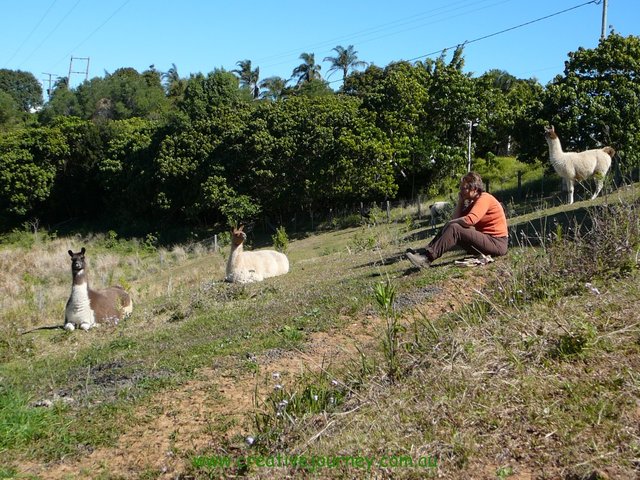
[(593, 176), (596, 181), (596, 192), (591, 200), (596, 198), (602, 186), (604, 185), (604, 177), (611, 166), (611, 158), (616, 151), (611, 147), (596, 148), (586, 150), (584, 152), (563, 152), (560, 139), (553, 128), (545, 127), (544, 136), (549, 145), (549, 160), (555, 169), (567, 182), (567, 191), (569, 193), (569, 205), (573, 203), (573, 187), (576, 182), (581, 182)]

